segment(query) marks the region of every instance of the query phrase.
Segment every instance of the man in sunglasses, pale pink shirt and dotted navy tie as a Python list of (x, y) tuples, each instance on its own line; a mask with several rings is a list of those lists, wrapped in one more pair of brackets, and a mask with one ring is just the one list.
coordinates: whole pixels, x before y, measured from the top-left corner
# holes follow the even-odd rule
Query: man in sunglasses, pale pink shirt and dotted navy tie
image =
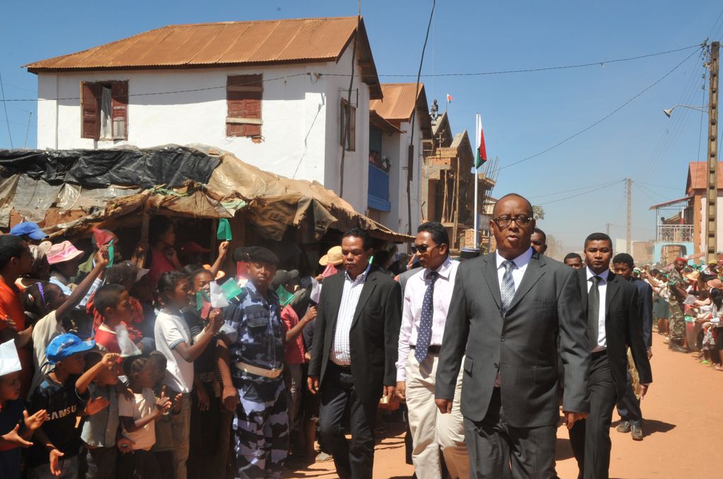
[(424, 269), (404, 289), (397, 359), (397, 395), (406, 400), (412, 436), (412, 462), (419, 478), (442, 478), (440, 449), (453, 479), (469, 478), (469, 456), (459, 410), (441, 414), (435, 404), (435, 376), (442, 335), (459, 263), (449, 257), (449, 236), (437, 221), (419, 226), (412, 251)]

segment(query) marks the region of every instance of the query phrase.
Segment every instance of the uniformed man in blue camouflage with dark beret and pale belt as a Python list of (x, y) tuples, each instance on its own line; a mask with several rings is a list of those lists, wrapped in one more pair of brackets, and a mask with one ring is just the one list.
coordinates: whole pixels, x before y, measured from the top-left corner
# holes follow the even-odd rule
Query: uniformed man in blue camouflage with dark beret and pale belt
[(236, 478), (281, 478), (288, 449), (284, 330), (278, 296), (269, 289), (278, 258), (264, 247), (238, 248), (234, 258), (249, 262), (249, 281), (226, 311), (226, 326), (236, 333), (228, 337), (239, 394)]

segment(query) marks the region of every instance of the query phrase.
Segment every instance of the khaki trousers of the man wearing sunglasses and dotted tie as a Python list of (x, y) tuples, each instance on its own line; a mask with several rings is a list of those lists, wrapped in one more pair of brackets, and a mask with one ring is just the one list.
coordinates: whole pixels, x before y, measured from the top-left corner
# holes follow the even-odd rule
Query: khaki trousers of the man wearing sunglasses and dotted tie
[(462, 372), (457, 377), (452, 413), (442, 414), (435, 404), (437, 354), (429, 354), (422, 364), (409, 351), (406, 362), (406, 403), (414, 448), (411, 460), (419, 479), (441, 479), (440, 448), (453, 479), (469, 478), (469, 455), (464, 441), (460, 410)]

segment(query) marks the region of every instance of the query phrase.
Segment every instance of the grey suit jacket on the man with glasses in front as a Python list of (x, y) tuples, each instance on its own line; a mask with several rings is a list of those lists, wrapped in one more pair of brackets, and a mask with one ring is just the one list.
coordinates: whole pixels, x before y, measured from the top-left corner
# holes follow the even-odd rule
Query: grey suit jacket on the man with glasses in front
[(514, 427), (557, 424), (557, 338), (565, 410), (589, 411), (589, 351), (576, 271), (534, 253), (506, 315), (496, 253), (459, 266), (437, 366), (437, 398), (452, 399), (462, 356), (462, 413), (482, 421), (500, 370), (502, 408)]

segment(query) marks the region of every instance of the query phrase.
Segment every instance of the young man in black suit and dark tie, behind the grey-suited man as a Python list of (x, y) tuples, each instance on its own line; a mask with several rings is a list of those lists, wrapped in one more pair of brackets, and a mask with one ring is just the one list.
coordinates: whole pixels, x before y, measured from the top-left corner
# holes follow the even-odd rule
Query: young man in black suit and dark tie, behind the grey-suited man
[(593, 233), (585, 239), (587, 266), (578, 271), (578, 281), (587, 305), (590, 416), (570, 429), (578, 478), (584, 479), (608, 477), (612, 410), (625, 395), (628, 348), (638, 369), (641, 397), (653, 381), (638, 315), (638, 289), (610, 271), (611, 259), (612, 240), (607, 234)]

